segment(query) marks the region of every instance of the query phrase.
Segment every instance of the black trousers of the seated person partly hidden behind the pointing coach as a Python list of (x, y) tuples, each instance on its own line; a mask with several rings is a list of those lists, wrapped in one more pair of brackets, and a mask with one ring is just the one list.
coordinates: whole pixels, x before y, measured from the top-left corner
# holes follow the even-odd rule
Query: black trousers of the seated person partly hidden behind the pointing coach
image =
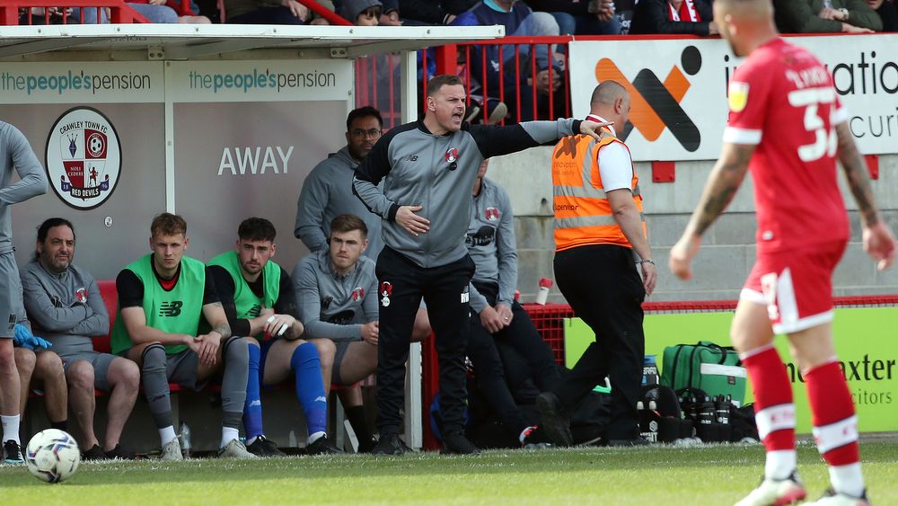
[[(487, 298), (490, 306), (496, 305), (497, 285), (475, 283), (474, 286), (480, 295)], [(529, 369), (526, 374), (533, 378), (533, 382), (541, 391), (558, 385), (559, 368), (555, 365), (549, 345), (542, 341), (539, 331), (524, 311), (524, 307), (515, 302), (511, 310), (514, 315), (511, 324), (493, 334), (480, 324), (480, 315), (471, 311), (471, 334), (468, 336), (468, 347), (465, 351), (474, 365), (474, 379), (477, 386), (502, 424), (517, 437), (530, 423), (518, 409), (515, 397), (508, 388), (497, 343), (506, 343), (524, 358)]]

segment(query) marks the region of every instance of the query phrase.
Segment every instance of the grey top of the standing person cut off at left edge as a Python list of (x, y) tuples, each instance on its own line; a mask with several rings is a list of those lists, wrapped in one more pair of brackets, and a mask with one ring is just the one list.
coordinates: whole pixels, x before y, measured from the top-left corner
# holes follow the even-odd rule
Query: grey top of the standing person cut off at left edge
[[(19, 181), (13, 182), (13, 170)], [(28, 139), (19, 129), (0, 121), (0, 254), (13, 251), (11, 204), (47, 192), (47, 176)]]

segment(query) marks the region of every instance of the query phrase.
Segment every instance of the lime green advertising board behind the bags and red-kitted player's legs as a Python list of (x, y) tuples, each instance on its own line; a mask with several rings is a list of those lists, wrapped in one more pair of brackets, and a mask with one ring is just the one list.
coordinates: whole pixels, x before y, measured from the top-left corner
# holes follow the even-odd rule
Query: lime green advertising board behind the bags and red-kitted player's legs
[[(726, 311), (647, 313), (644, 324), (646, 354), (656, 355), (660, 369), (663, 365), (661, 357), (667, 346), (699, 341), (729, 346), (732, 320), (733, 313)], [(836, 307), (832, 331), (842, 371), (848, 379), (851, 397), (858, 410), (859, 430), (898, 431), (898, 416), (895, 416), (895, 404), (898, 404), (898, 308)], [(593, 341), (592, 330), (582, 320), (565, 320), (566, 354), (576, 357)], [(811, 432), (811, 413), (804, 377), (789, 354), (788, 340), (778, 336), (775, 343), (792, 382), (797, 431), (808, 434)], [(753, 402), (751, 385), (745, 402)]]

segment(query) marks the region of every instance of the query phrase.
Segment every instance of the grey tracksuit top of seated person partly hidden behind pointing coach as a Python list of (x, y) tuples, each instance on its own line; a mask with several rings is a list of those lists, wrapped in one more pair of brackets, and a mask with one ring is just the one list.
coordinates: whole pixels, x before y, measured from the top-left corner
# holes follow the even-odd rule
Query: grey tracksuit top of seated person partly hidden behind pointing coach
[[(465, 244), (477, 266), (472, 280), (498, 285), (496, 302), (511, 307), (517, 287), (515, 216), (506, 191), (487, 178), (480, 182), (480, 194), (471, 201)], [(473, 285), (469, 291), (471, 309), (480, 313), (489, 303)]]

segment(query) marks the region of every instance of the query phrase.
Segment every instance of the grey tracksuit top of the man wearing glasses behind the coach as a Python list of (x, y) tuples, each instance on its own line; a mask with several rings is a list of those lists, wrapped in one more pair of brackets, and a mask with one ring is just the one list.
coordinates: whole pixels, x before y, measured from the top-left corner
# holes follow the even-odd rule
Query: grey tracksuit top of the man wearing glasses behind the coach
[(341, 214), (361, 217), (368, 227), (365, 256), (376, 259), (383, 249), (381, 219), (376, 217), (352, 194), (352, 174), (358, 162), (343, 146), (336, 155), (315, 165), (303, 182), (296, 202), (296, 226), (293, 235), (303, 241), (309, 251), (328, 249), (330, 222)]

